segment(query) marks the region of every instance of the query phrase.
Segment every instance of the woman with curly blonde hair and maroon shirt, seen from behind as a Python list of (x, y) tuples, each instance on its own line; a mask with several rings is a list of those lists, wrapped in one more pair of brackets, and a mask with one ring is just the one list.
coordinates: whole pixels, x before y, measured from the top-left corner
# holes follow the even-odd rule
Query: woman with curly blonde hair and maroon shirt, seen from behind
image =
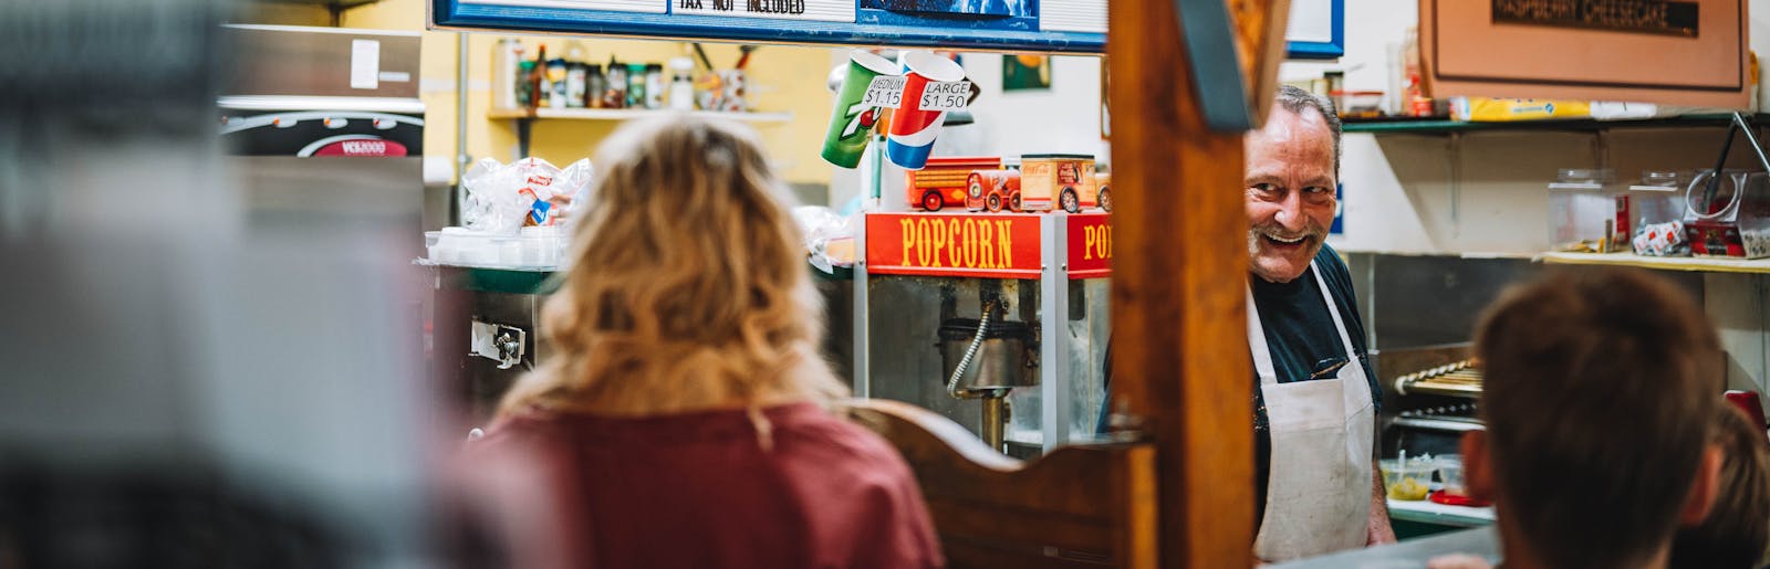
[(889, 444), (832, 413), (821, 309), (782, 184), (733, 124), (634, 122), (602, 145), (554, 352), (478, 445), (549, 489), (547, 564), (933, 567)]

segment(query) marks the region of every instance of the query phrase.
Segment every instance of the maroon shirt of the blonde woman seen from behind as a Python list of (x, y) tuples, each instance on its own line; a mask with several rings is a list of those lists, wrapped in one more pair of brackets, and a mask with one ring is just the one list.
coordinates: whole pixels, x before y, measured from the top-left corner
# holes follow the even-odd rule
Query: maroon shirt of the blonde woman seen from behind
[[(938, 567), (903, 458), (811, 403), (657, 417), (529, 412), (474, 444), (545, 486), (572, 567)], [(469, 459), (473, 458), (469, 454)], [(471, 468), (471, 467), (469, 467)]]

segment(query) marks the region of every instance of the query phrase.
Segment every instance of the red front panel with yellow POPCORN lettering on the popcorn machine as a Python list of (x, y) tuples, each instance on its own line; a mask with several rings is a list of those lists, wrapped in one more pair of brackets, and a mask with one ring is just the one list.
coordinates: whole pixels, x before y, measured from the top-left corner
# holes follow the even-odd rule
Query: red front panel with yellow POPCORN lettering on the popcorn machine
[(1037, 279), (1041, 216), (867, 214), (867, 272)]

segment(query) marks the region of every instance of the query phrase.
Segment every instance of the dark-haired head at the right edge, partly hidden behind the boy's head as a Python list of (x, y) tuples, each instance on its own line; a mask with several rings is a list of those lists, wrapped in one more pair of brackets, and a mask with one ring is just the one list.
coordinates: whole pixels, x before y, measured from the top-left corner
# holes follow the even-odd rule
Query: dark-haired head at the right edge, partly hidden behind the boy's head
[(1678, 530), (1671, 544), (1674, 569), (1752, 569), (1765, 565), (1770, 546), (1770, 440), (1733, 406), (1715, 412), (1715, 444), (1726, 458), (1715, 486), (1715, 507), (1701, 525)]

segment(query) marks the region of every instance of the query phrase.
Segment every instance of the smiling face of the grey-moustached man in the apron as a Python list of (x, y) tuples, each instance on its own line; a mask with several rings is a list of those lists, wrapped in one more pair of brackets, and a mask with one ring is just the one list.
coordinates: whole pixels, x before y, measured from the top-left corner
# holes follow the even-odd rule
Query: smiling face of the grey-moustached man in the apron
[(1248, 133), (1248, 267), (1289, 283), (1310, 267), (1333, 224), (1333, 131), (1315, 110), (1273, 106), (1266, 127)]

